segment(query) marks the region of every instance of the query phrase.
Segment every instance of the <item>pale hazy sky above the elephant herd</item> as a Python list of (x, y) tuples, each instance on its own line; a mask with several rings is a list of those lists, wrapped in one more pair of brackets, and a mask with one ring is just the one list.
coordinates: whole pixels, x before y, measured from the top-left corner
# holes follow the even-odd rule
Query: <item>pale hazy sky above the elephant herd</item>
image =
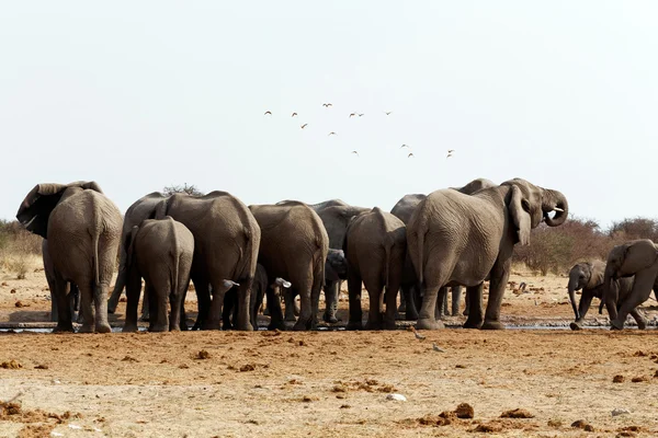
[(602, 226), (657, 217), (657, 22), (655, 1), (5, 1), (0, 218), (46, 182), (122, 211), (182, 183), (390, 209), (517, 176)]

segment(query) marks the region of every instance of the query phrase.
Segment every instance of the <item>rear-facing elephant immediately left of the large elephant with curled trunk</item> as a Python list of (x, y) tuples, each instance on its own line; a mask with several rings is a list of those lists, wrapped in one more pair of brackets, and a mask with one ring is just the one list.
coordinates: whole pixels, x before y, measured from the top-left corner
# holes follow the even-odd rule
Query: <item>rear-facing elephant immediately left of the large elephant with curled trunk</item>
[(397, 293), (407, 256), (405, 223), (378, 207), (356, 216), (348, 227), (344, 256), (348, 261), (350, 295), (350, 319), (347, 328), (362, 328), (363, 281), (370, 297), (365, 328), (395, 330)]

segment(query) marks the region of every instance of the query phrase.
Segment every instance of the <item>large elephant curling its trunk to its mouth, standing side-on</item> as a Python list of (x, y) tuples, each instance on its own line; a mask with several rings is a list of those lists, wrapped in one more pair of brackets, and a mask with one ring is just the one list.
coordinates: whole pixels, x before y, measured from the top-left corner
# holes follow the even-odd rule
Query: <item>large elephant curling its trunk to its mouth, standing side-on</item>
[[(441, 328), (443, 323), (434, 319), (438, 291), (461, 285), (467, 288), (469, 300), (464, 327), (504, 328), (500, 307), (514, 244), (529, 244), (530, 231), (542, 221), (549, 227), (560, 226), (568, 211), (561, 193), (521, 178), (473, 195), (454, 189), (431, 193), (418, 205), (407, 226), (407, 251), (423, 292), (416, 327)], [(483, 315), (486, 279), (490, 281), (489, 299)]]

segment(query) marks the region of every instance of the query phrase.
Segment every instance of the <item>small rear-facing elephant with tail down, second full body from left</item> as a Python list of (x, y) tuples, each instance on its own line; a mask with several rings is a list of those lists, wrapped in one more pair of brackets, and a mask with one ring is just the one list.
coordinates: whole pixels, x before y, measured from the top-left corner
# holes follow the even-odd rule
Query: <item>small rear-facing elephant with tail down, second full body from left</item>
[[(141, 278), (150, 313), (150, 332), (185, 330), (181, 318), (182, 303), (190, 286), (190, 268), (194, 255), (194, 237), (188, 228), (167, 216), (147, 219), (133, 227), (126, 237), (127, 281), (126, 323), (124, 332), (137, 331), (137, 304), (141, 293)], [(171, 303), (171, 318), (168, 303)]]

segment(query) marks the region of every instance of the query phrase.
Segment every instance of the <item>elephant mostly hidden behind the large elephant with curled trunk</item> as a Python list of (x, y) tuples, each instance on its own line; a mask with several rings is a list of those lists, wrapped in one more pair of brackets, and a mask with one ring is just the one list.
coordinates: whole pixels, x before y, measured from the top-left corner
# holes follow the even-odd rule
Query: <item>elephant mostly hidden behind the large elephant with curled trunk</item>
[[(472, 195), (483, 188), (495, 187), (496, 184), (487, 178), (476, 178), (466, 184), (463, 187), (450, 187), (460, 193)], [(405, 195), (398, 203), (393, 207), (390, 212), (398, 217), (405, 224), (409, 223), (411, 219), (411, 215), (416, 207), (427, 198), (427, 195), (422, 194), (413, 194), (413, 195)], [(418, 320), (418, 311), (420, 310), (420, 304), (422, 297), (420, 297), (420, 291), (417, 288), (417, 277), (413, 269), (413, 265), (411, 264), (411, 258), (407, 255), (407, 261), (405, 262), (405, 276), (401, 286), (401, 295), (400, 295), (400, 308), (399, 312), (405, 312), (405, 319), (408, 321)], [(462, 301), (462, 287), (453, 286), (451, 288), (452, 291), (452, 315), (455, 316), (460, 313), (460, 302)], [(409, 306), (409, 302), (412, 306)], [(468, 300), (466, 300), (466, 309), (464, 310), (464, 314), (468, 314)], [(440, 318), (441, 314), (449, 314), (447, 308), (447, 289), (442, 289), (439, 291), (439, 300), (436, 308), (435, 318)]]

